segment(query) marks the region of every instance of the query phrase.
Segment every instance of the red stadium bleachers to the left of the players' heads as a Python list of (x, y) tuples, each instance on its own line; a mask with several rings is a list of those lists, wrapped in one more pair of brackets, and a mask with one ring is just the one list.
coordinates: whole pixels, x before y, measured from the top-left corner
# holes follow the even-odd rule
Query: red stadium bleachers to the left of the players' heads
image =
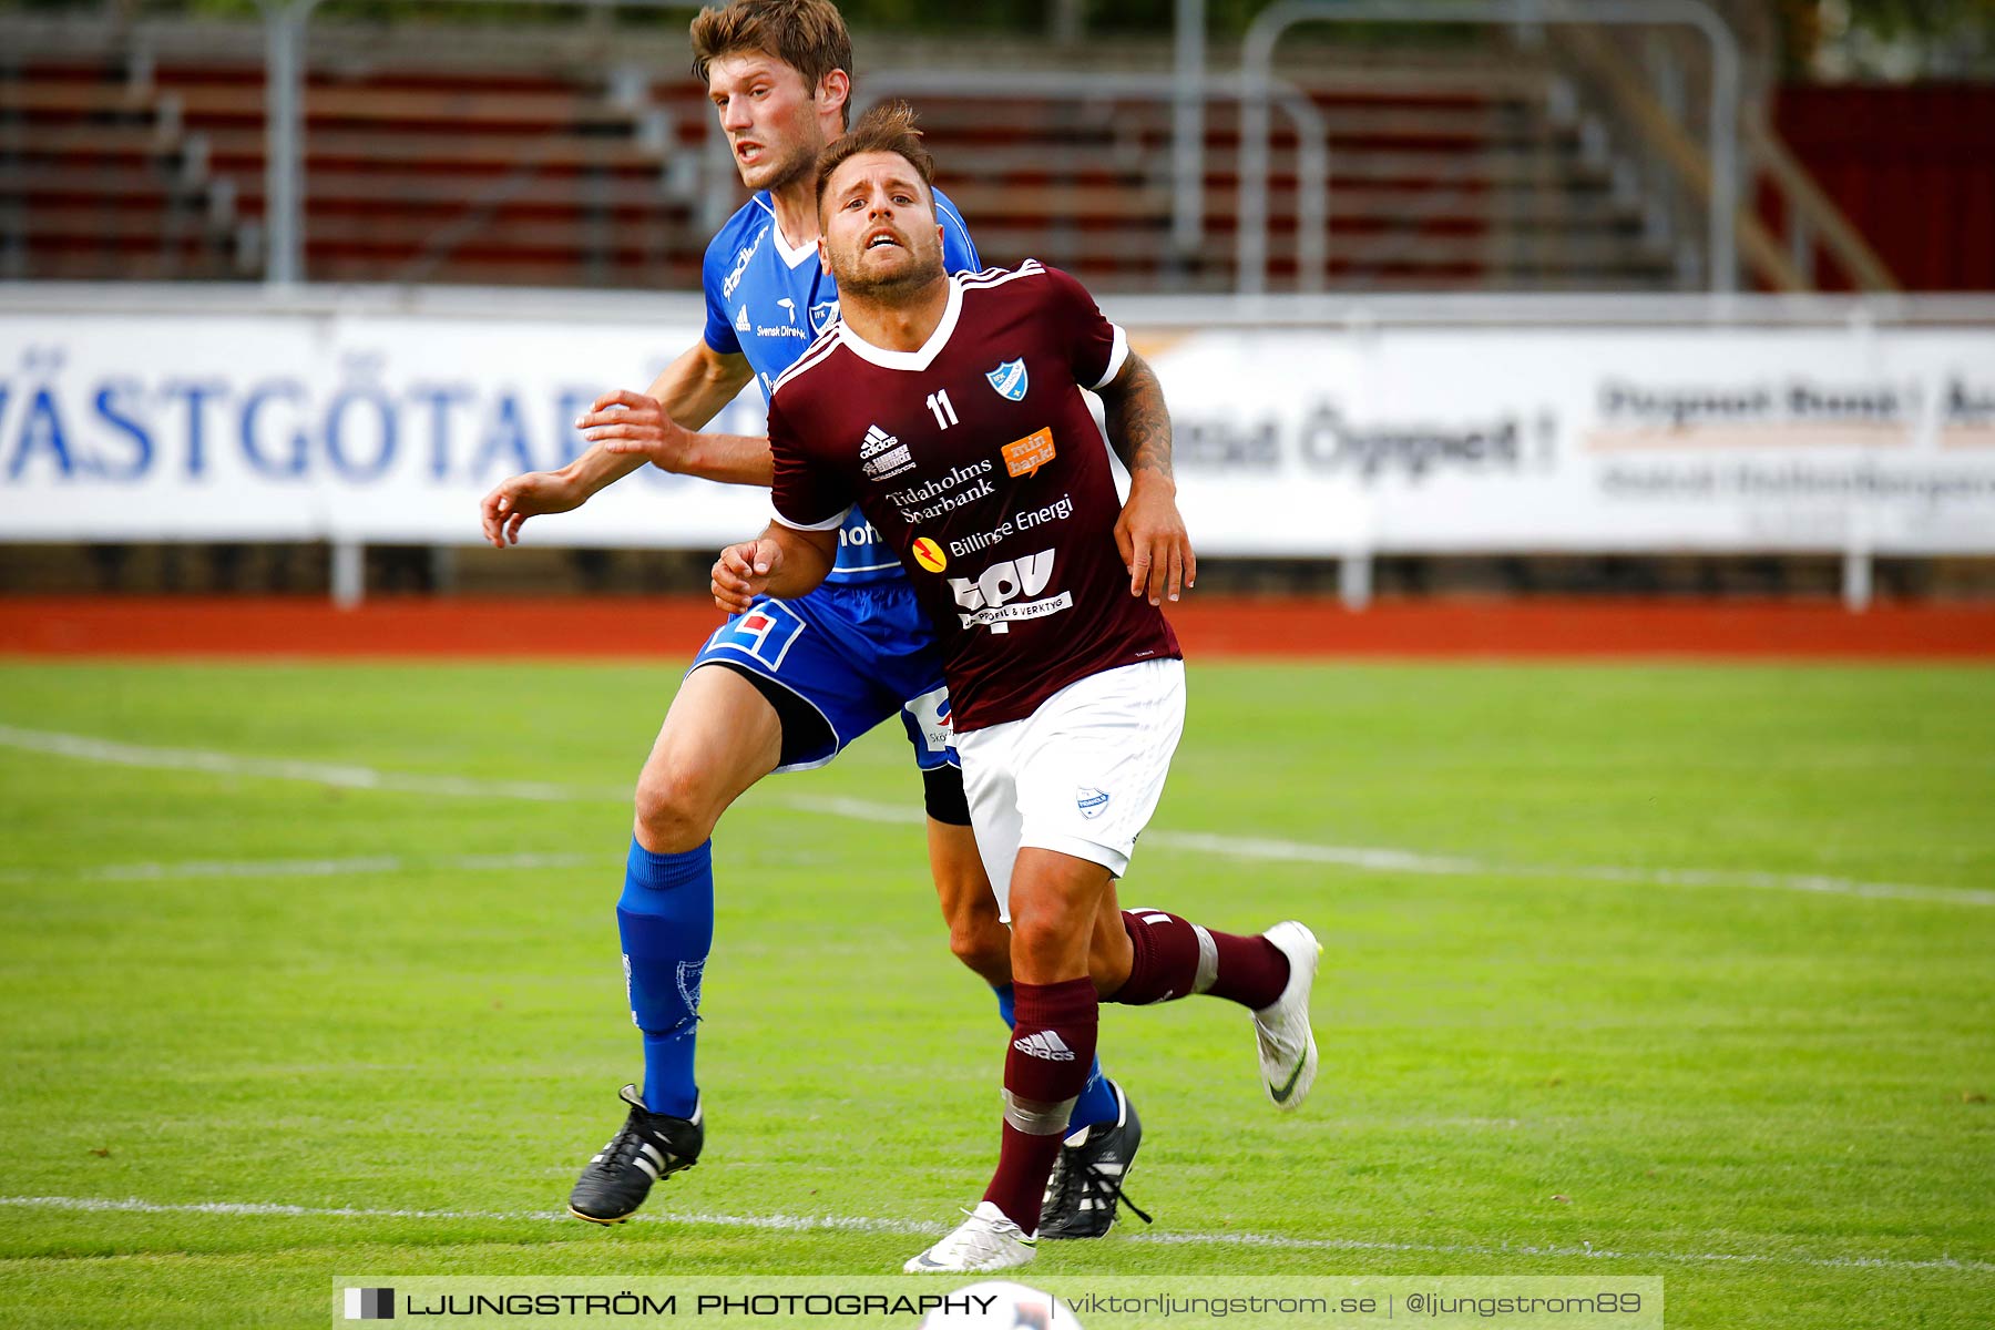
[[(267, 152), (259, 70), (28, 64), (0, 80), (0, 110), (16, 275), (255, 275)], [(694, 281), (692, 207), (668, 179), (680, 156), (672, 110), (668, 98), (618, 106), (559, 78), (315, 76), (303, 98), (307, 271), (329, 281)]]

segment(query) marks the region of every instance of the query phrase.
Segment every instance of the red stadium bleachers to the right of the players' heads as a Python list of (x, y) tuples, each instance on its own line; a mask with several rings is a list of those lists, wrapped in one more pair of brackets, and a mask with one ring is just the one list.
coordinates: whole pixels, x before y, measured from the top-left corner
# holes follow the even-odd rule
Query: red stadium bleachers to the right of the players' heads
[[(1570, 110), (1556, 70), (1484, 52), (1391, 70), (1313, 62), (1291, 80), (1329, 134), (1333, 289), (1656, 289), (1670, 255)], [(884, 76), (892, 86), (892, 74)], [(1205, 112), (1205, 243), (1171, 247), (1171, 106), (1089, 92), (926, 92), (924, 124), (986, 251), (1103, 289), (1233, 289), (1237, 102)], [(1301, 285), (1297, 136), (1271, 140), (1269, 275)]]

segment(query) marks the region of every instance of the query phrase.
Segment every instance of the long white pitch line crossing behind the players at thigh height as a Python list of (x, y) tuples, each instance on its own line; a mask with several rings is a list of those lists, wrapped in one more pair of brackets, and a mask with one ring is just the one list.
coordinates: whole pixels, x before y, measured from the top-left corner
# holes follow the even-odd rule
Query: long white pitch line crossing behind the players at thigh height
[[(205, 752), (198, 748), (146, 748), (138, 744), (98, 740), (82, 734), (22, 730), (16, 726), (0, 726), (0, 746), (52, 754), (58, 758), (74, 758), (78, 762), (207, 772), (213, 776), (297, 780), (319, 786), (337, 786), (341, 790), (383, 790), (393, 794), (533, 802), (624, 802), (630, 798), (630, 792), (622, 788), (585, 790), (579, 786), (555, 786), (545, 782), (489, 782), (465, 776), (403, 776), (365, 766), (293, 762), (285, 758), (237, 758), (233, 754)], [(912, 806), (872, 804), (868, 800), (848, 800), (836, 796), (800, 796), (784, 800), (782, 806), (804, 814), (824, 814), (832, 818), (882, 822), (892, 826), (918, 826), (924, 820), (922, 812)], [(1748, 887), (1754, 891), (1797, 891), (1807, 895), (1995, 907), (1995, 891), (1987, 889), (1857, 881), (1817, 873), (1494, 863), (1458, 855), (1420, 853), (1414, 849), (1319, 845), (1259, 835), (1213, 835), (1205, 831), (1149, 831), (1143, 843), (1231, 859), (1261, 859), (1271, 863), (1335, 863), (1339, 867), (1357, 867), (1379, 873), (1428, 873), (1442, 877), (1558, 877), (1568, 881), (1612, 881), (1620, 885), (1656, 887)]]

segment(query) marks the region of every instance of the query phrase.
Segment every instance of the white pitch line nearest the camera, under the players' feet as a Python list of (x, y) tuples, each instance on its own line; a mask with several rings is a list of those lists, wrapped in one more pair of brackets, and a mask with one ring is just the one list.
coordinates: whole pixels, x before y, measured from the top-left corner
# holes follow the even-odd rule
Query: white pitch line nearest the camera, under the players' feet
[[(124, 1214), (225, 1214), (279, 1218), (415, 1218), (415, 1220), (497, 1220), (497, 1222), (573, 1222), (567, 1210), (369, 1210), (359, 1206), (301, 1206), (241, 1200), (203, 1200), (162, 1204), (156, 1200), (114, 1200), (102, 1196), (0, 1196), (0, 1206), (46, 1210), (124, 1212)], [(646, 1224), (690, 1224), (702, 1228), (762, 1228), (772, 1232), (884, 1232), (910, 1238), (936, 1236), (948, 1224), (914, 1224), (896, 1218), (866, 1218), (856, 1214), (704, 1214), (654, 1212), (636, 1214)], [(1618, 1252), (1592, 1244), (1536, 1246), (1504, 1242), (1480, 1246), (1468, 1242), (1367, 1242), (1363, 1238), (1289, 1238), (1265, 1232), (1123, 1232), (1123, 1242), (1159, 1242), (1165, 1246), (1261, 1246), (1305, 1252), (1410, 1252), (1422, 1256), (1570, 1256), (1580, 1260), (1654, 1260), (1668, 1264), (1778, 1264), (1813, 1266), (1825, 1270), (1967, 1270), (1995, 1274), (1995, 1262), (1939, 1256), (1905, 1260), (1899, 1256), (1784, 1256), (1776, 1252)]]

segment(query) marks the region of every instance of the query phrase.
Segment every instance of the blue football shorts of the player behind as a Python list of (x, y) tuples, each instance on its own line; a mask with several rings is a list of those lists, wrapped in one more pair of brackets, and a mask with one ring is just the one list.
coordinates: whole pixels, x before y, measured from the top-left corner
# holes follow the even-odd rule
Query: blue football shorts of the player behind
[[(826, 582), (798, 600), (764, 596), (706, 638), (692, 670), (726, 664), (796, 694), (824, 724), (826, 746), (786, 752), (778, 772), (824, 766), (890, 716), (900, 716), (924, 772), (962, 766), (950, 732), (950, 690), (936, 632), (906, 580)], [(692, 672), (688, 670), (688, 674)]]

